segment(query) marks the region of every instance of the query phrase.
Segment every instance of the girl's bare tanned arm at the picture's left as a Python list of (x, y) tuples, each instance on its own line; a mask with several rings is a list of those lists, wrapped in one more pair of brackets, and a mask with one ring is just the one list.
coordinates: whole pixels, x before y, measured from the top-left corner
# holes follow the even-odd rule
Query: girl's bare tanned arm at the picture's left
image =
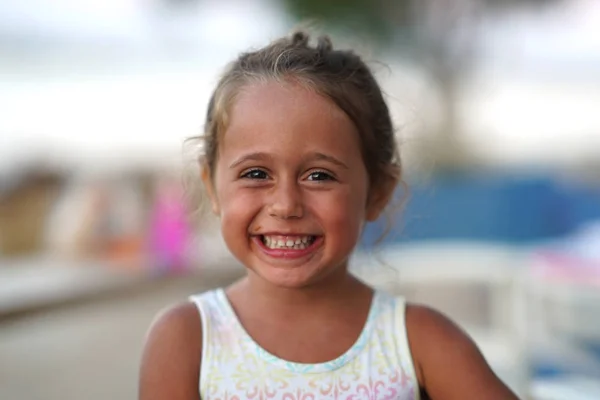
[(139, 400), (199, 400), (202, 324), (184, 303), (153, 322), (142, 355)]

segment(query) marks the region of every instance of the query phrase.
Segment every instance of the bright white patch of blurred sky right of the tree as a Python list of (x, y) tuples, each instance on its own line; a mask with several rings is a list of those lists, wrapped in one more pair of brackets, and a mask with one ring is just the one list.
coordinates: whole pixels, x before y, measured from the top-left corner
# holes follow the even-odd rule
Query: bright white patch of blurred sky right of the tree
[(482, 33), (463, 111), (472, 143), (506, 162), (600, 158), (600, 1), (500, 16)]

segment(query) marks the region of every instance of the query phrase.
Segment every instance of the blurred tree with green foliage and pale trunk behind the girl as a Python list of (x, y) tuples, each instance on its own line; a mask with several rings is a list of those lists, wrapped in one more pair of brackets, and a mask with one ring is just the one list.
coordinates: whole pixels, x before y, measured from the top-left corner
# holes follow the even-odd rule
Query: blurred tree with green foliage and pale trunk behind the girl
[(418, 62), (440, 97), (439, 131), (417, 151), (435, 160), (438, 172), (472, 167), (461, 145), (457, 94), (476, 56), (479, 22), (517, 8), (541, 8), (561, 0), (282, 0), (298, 20), (315, 20), (342, 34), (367, 38), (385, 51)]

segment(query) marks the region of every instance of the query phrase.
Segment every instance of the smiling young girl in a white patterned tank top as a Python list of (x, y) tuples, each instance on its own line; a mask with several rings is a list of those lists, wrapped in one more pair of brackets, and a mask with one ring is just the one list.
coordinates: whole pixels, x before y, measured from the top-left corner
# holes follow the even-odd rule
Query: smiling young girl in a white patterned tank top
[(205, 129), (203, 183), (247, 276), (157, 318), (140, 399), (516, 398), (447, 318), (348, 272), (401, 178), (357, 55), (304, 33), (242, 54)]

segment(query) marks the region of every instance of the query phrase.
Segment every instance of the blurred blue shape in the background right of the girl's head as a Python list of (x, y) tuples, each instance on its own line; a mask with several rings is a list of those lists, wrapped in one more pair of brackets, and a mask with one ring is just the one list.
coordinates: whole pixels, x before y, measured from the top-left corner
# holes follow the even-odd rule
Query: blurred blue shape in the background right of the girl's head
[[(457, 175), (410, 190), (383, 244), (428, 239), (532, 244), (600, 219), (600, 188), (550, 177)], [(376, 242), (386, 224), (384, 216), (367, 225), (363, 245)]]

